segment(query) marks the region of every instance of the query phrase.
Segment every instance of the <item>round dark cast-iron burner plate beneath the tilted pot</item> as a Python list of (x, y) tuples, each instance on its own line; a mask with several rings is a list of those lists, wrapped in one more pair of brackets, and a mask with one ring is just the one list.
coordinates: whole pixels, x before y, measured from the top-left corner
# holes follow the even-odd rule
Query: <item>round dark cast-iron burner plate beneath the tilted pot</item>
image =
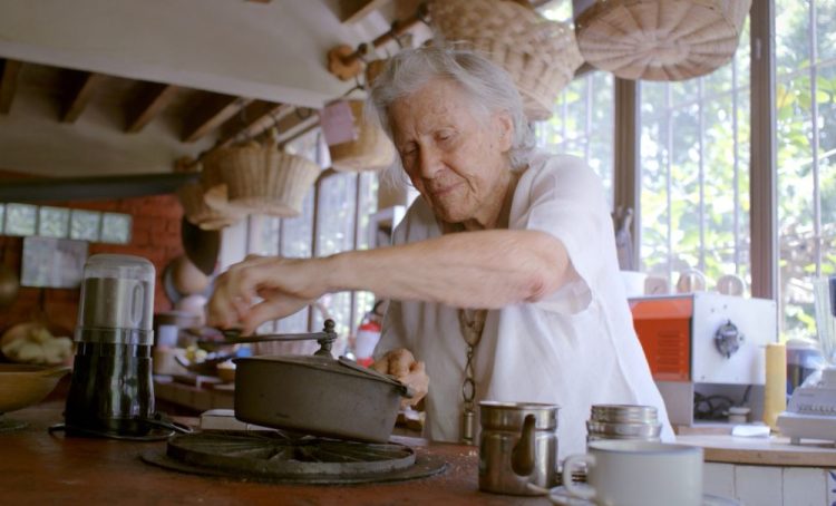
[(278, 484), (400, 481), (443, 473), (439, 457), (399, 444), (353, 442), (280, 431), (204, 431), (168, 439), (165, 451), (145, 451), (152, 465), (182, 473)]

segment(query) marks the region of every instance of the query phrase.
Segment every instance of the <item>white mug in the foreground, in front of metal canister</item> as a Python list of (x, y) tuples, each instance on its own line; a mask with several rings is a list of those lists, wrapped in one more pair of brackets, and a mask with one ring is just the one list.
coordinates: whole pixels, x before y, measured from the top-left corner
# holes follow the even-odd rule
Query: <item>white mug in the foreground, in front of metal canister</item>
[[(572, 483), (586, 465), (587, 486)], [(566, 493), (610, 506), (700, 506), (702, 448), (642, 440), (592, 441), (563, 463)]]

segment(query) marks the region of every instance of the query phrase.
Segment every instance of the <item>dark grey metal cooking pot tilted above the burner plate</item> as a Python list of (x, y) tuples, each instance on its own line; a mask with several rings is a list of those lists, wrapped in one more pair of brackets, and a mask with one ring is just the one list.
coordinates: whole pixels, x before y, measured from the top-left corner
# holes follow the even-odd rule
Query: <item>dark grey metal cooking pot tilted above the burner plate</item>
[(411, 395), (400, 381), (346, 358), (235, 360), (235, 418), (266, 427), (386, 442), (401, 397)]

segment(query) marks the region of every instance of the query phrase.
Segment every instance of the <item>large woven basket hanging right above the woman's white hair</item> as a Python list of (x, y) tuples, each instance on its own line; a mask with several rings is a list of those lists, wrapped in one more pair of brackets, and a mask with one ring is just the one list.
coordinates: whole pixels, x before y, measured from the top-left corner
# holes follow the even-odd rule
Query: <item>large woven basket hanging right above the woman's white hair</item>
[(548, 119), (583, 59), (568, 25), (505, 0), (431, 0), (434, 30), (485, 52), (514, 78), (529, 119)]

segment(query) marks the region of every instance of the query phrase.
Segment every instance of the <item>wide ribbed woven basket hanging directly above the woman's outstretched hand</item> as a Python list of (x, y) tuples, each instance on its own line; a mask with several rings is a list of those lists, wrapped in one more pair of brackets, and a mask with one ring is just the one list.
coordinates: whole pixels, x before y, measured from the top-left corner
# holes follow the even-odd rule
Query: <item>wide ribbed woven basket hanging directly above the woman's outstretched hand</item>
[[(223, 182), (229, 206), (246, 214), (299, 216), (302, 201), (317, 181), (320, 167), (301, 156), (276, 149), (274, 144), (221, 148), (203, 162), (204, 186)], [(211, 207), (223, 207), (223, 200), (206, 195)]]

